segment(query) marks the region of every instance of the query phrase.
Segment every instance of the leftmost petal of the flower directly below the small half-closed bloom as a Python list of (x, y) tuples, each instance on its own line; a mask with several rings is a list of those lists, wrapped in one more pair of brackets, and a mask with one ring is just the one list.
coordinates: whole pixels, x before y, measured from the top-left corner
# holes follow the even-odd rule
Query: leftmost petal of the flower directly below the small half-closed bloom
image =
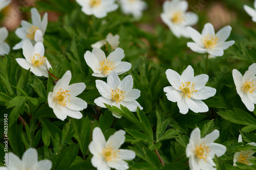
[(87, 51), (86, 54), (84, 54), (84, 60), (86, 60), (87, 65), (92, 68), (93, 72), (96, 73), (101, 73), (102, 71), (99, 70), (100, 66), (99, 63), (101, 61), (98, 61), (98, 59), (96, 58), (96, 56)]

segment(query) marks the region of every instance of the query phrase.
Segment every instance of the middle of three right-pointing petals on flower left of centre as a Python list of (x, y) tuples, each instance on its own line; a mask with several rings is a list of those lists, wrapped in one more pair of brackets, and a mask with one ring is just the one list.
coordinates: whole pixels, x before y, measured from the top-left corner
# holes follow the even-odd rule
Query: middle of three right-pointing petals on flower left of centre
[(67, 103), (66, 107), (70, 110), (83, 110), (87, 108), (87, 103), (86, 101), (76, 98), (76, 97), (70, 97), (69, 98), (69, 103)]

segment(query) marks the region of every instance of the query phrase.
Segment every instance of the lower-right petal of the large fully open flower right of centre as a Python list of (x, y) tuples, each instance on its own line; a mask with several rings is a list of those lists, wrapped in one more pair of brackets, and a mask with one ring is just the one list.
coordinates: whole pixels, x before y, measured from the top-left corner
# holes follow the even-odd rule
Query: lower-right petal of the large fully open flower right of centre
[(193, 98), (185, 98), (185, 102), (190, 110), (195, 113), (204, 113), (209, 110), (208, 106), (201, 100), (196, 100)]

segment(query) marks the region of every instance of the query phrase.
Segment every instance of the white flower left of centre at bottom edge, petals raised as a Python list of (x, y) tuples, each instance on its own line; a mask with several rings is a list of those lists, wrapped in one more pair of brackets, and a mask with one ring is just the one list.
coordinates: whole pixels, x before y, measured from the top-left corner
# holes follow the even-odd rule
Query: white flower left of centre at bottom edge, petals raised
[(93, 154), (92, 165), (97, 167), (97, 170), (129, 168), (124, 160), (133, 160), (136, 154), (131, 150), (119, 149), (125, 140), (124, 135), (125, 131), (119, 130), (106, 141), (100, 128), (93, 129), (93, 140), (89, 144), (89, 150)]

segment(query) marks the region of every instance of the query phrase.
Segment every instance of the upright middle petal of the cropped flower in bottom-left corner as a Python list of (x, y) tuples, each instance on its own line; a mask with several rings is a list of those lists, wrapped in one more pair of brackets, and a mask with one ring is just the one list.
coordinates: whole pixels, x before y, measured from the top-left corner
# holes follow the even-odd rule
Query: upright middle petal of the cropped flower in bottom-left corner
[(34, 148), (29, 148), (22, 156), (22, 162), (26, 169), (33, 169), (33, 166), (38, 162), (37, 151)]

